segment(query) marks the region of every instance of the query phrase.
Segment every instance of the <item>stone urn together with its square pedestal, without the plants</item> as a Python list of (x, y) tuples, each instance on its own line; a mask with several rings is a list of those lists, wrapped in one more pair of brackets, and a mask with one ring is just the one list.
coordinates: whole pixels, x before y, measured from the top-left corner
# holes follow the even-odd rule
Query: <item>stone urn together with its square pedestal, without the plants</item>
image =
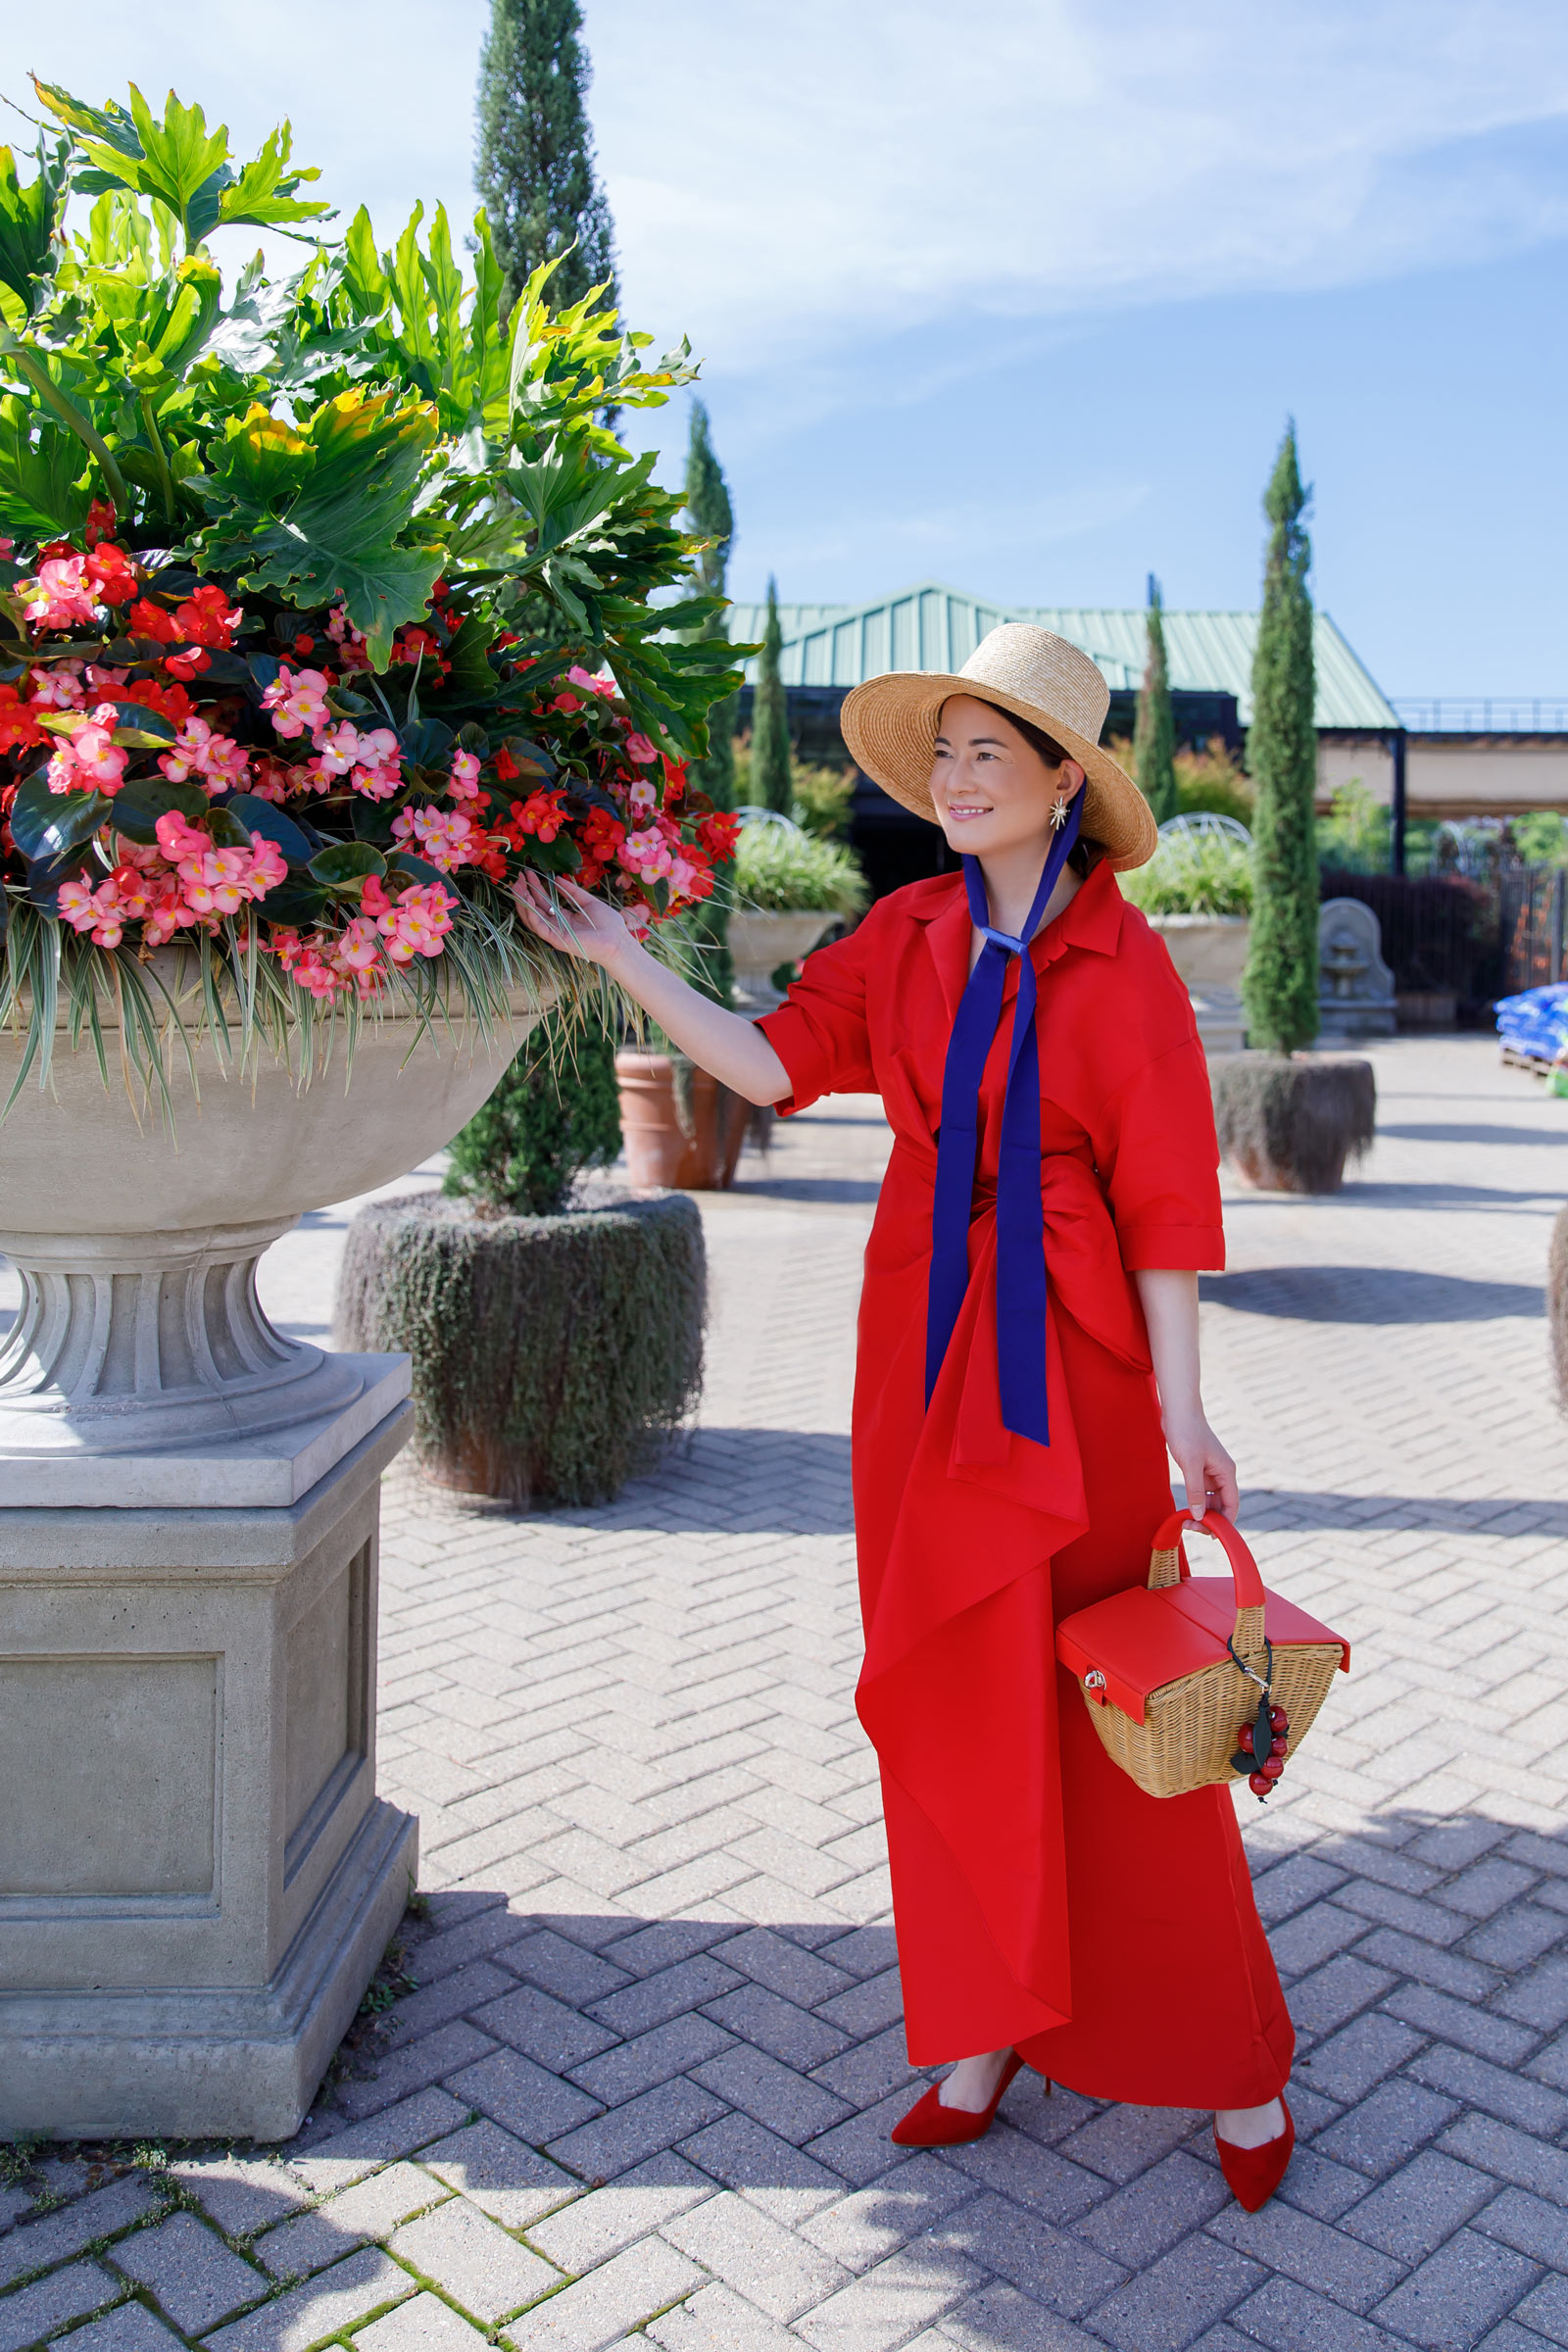
[[(169, 953), (169, 950), (165, 950)], [(534, 1009), (517, 1000), (517, 1028)], [(0, 2136), (284, 2138), (404, 1910), (376, 1797), (378, 1475), (409, 1369), (280, 1336), (256, 1261), (442, 1145), (515, 1033), (169, 1054), (174, 1134), (59, 1033), (0, 1129)], [(0, 1035), (0, 1101), (21, 1044)]]

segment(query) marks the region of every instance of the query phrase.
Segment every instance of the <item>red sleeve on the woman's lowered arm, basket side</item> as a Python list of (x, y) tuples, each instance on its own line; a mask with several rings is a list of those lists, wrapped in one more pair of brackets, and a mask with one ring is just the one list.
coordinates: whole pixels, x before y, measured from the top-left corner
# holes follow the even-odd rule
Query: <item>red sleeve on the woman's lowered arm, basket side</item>
[(1105, 1105), (1095, 1157), (1128, 1275), (1225, 1265), (1220, 1148), (1197, 1037), (1147, 1061)]

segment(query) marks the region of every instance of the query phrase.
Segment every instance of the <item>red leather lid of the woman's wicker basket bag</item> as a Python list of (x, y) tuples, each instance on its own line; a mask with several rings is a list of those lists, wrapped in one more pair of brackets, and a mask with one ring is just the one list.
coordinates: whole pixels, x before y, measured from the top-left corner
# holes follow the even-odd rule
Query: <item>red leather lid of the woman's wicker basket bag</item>
[[(1185, 1576), (1159, 1592), (1133, 1585), (1063, 1618), (1056, 1628), (1056, 1656), (1079, 1682), (1098, 1668), (1105, 1696), (1140, 1724), (1150, 1691), (1215, 1665), (1234, 1623), (1237, 1590), (1229, 1576)], [(1349, 1642), (1279, 1592), (1265, 1592), (1262, 1630), (1276, 1649), (1338, 1642), (1340, 1670), (1349, 1672)]]

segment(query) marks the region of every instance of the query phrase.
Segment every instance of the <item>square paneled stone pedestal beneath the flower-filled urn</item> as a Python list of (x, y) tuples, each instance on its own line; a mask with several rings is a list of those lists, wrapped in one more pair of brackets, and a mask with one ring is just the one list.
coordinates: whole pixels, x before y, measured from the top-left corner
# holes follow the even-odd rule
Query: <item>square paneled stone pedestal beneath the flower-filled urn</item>
[(409, 1421), (284, 1508), (0, 1510), (0, 2138), (299, 2129), (414, 1886), (374, 1691)]

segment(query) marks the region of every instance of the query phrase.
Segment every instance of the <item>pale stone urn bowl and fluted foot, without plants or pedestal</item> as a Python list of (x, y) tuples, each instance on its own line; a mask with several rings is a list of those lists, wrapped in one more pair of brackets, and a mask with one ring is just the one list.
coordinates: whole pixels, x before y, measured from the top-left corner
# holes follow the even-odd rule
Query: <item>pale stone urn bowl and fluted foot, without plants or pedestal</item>
[[(195, 1084), (169, 1051), (172, 1124), (120, 1084), (108, 1023), (108, 1087), (61, 1030), (47, 1091), (28, 1077), (0, 1129), (0, 1251), (24, 1287), (0, 1343), (0, 1463), (63, 1449), (82, 1468), (82, 1454), (259, 1437), (350, 1404), (362, 1374), (273, 1331), (256, 1261), (303, 1211), (447, 1143), (534, 1018), (522, 995), (510, 1033), (489, 1037), (456, 1018), (418, 1035), (390, 1011), (362, 1021), (353, 1070), (339, 1028), (308, 1084), (266, 1051), (235, 1073), (205, 1037)], [(0, 1035), (0, 1101), (19, 1063), (21, 1040)]]

